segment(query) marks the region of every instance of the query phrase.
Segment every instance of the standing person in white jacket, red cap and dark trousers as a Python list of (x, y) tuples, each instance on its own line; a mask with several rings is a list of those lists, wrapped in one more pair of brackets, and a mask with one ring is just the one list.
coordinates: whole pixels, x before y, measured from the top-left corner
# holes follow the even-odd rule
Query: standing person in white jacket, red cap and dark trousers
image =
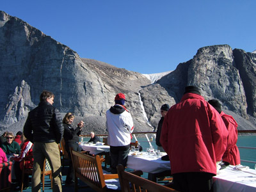
[(133, 131), (132, 116), (125, 108), (125, 95), (118, 93), (115, 106), (106, 112), (106, 127), (108, 131), (108, 145), (110, 145), (111, 173), (116, 172), (116, 166), (126, 166)]

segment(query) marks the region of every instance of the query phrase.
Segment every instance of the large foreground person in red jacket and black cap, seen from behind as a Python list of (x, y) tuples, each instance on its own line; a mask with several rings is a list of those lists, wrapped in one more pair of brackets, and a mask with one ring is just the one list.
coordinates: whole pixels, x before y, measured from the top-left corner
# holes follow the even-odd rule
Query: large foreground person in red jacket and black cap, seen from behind
[(164, 117), (160, 142), (170, 158), (172, 188), (212, 191), (216, 162), (227, 146), (227, 129), (220, 114), (196, 86), (186, 86), (179, 103)]

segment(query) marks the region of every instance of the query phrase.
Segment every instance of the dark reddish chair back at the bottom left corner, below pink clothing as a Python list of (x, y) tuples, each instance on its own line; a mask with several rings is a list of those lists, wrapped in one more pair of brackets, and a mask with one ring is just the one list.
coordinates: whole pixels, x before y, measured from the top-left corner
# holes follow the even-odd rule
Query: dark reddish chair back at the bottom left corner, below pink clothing
[(12, 161), (0, 163), (0, 191), (10, 191), (12, 184)]

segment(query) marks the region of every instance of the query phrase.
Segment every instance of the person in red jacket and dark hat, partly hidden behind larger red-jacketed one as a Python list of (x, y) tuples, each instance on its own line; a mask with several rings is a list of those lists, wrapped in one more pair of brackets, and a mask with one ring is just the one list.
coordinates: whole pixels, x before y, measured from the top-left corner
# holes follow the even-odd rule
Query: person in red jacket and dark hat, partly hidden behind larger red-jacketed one
[(238, 126), (236, 120), (234, 120), (233, 116), (227, 115), (221, 110), (221, 104), (218, 100), (211, 99), (208, 102), (220, 113), (220, 116), (228, 131), (227, 149), (222, 157), (222, 160), (232, 165), (240, 164), (240, 153), (236, 145)]

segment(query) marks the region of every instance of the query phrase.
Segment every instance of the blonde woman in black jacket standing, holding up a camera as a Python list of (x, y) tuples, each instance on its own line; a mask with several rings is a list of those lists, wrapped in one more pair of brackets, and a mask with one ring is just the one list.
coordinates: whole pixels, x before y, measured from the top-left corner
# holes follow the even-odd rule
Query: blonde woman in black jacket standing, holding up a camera
[(72, 122), (74, 121), (74, 115), (72, 113), (67, 113), (63, 118), (63, 126), (64, 126), (64, 135), (63, 138), (65, 140), (65, 150), (68, 152), (69, 157), (69, 168), (67, 173), (67, 178), (65, 181), (66, 185), (74, 184), (74, 168), (72, 164), (70, 147), (72, 150), (81, 152), (81, 147), (79, 146), (79, 135), (81, 134), (82, 127), (84, 122), (81, 121), (77, 125), (77, 127), (72, 126)]

